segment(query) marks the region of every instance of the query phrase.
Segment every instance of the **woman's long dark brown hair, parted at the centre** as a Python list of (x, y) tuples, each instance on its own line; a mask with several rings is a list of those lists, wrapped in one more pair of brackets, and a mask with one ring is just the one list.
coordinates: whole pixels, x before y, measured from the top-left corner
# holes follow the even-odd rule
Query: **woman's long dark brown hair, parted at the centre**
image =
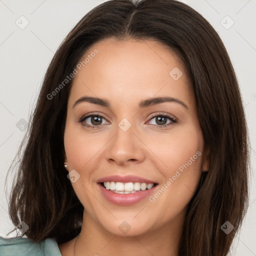
[[(179, 255), (226, 255), (248, 207), (249, 142), (242, 100), (216, 31), (198, 12), (175, 0), (109, 0), (67, 34), (46, 71), (19, 148), (21, 159), (9, 196), (13, 224), (24, 221), (29, 226), (26, 236), (36, 241), (54, 237), (62, 243), (80, 232), (83, 206), (63, 167), (72, 79), (51, 99), (47, 95), (93, 43), (106, 38), (154, 39), (182, 60), (210, 149), (210, 170), (202, 174), (188, 204)], [(221, 229), (226, 221), (234, 227), (228, 234)]]

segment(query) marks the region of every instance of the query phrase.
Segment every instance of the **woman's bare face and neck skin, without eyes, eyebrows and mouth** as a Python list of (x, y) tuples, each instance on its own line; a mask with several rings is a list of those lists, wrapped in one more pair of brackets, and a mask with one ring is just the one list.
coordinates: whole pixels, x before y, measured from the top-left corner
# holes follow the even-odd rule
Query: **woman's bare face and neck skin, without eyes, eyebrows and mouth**
[[(177, 255), (187, 204), (209, 166), (184, 66), (171, 49), (154, 40), (107, 39), (92, 45), (82, 59), (95, 48), (99, 52), (74, 77), (64, 132), (65, 161), (68, 171), (80, 174), (72, 186), (84, 206), (75, 254)], [(169, 75), (173, 67), (183, 72), (178, 80)], [(90, 102), (72, 107), (84, 95), (105, 98), (111, 108)], [(188, 108), (176, 102), (138, 108), (140, 100), (157, 96), (177, 98)], [(101, 114), (101, 124), (88, 128), (77, 122), (87, 113)], [(159, 124), (154, 113), (170, 114), (177, 122), (156, 127), (171, 120)], [(118, 127), (123, 118), (131, 123), (125, 132)], [(87, 118), (83, 123), (92, 122)], [(132, 174), (156, 180), (161, 187), (197, 151), (198, 158), (153, 202), (146, 197), (129, 206), (116, 205), (96, 185), (107, 175)], [(125, 234), (118, 228), (123, 221), (130, 226)], [(59, 244), (63, 256), (73, 255), (76, 238)]]

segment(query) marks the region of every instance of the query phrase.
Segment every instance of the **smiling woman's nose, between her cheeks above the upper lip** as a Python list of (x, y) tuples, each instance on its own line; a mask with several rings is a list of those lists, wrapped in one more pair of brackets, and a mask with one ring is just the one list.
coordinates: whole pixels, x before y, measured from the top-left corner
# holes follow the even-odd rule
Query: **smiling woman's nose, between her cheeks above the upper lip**
[(109, 162), (118, 165), (138, 163), (144, 160), (145, 145), (136, 134), (135, 124), (131, 125), (126, 131), (117, 126), (116, 133), (105, 147), (105, 158)]

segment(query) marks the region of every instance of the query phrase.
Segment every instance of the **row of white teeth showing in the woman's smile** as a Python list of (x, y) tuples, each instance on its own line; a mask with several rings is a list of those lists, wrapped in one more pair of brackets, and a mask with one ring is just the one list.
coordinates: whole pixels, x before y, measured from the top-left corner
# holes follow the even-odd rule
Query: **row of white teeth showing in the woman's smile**
[(106, 189), (110, 189), (115, 193), (135, 193), (138, 190), (150, 189), (153, 187), (153, 183), (140, 183), (140, 182), (103, 182)]

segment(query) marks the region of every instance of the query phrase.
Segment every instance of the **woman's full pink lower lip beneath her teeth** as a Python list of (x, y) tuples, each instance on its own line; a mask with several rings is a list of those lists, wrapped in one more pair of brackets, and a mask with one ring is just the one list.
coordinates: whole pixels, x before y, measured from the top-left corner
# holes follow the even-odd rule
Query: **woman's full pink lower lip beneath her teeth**
[(145, 197), (149, 196), (157, 185), (153, 186), (150, 189), (139, 190), (135, 193), (129, 194), (119, 194), (112, 192), (110, 189), (105, 189), (101, 184), (98, 183), (99, 189), (101, 190), (104, 197), (111, 203), (119, 204), (119, 205), (131, 205), (133, 203), (139, 202), (143, 200)]

